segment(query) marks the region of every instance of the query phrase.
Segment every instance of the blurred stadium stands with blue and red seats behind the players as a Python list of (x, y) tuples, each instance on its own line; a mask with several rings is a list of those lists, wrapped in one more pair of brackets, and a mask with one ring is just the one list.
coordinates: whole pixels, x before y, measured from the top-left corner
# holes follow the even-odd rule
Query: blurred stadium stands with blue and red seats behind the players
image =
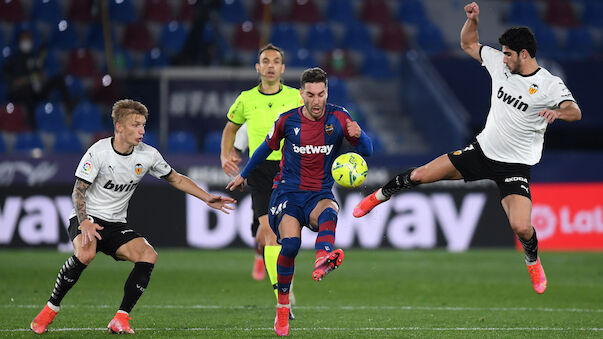
[[(267, 42), (284, 49), (291, 86), (304, 68), (328, 72), (329, 101), (348, 108), (378, 154), (449, 151), (481, 130), (490, 104), (486, 70), (459, 47), (466, 2), (0, 0), (0, 153), (81, 153), (112, 134), (111, 105), (121, 98), (149, 107), (145, 142), (219, 153), (234, 97), (214, 124), (162, 129), (173, 103), (162, 79), (174, 69), (253, 70)], [(539, 63), (582, 108), (582, 121), (549, 127), (546, 148), (603, 151), (603, 1), (479, 5), (480, 41), (499, 48), (506, 28), (529, 26)], [(255, 83), (251, 76), (235, 97)]]

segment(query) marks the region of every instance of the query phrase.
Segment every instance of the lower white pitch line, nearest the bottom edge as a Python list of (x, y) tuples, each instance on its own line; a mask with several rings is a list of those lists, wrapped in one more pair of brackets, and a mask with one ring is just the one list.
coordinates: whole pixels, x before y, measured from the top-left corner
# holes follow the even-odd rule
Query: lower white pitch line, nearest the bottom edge
[[(49, 332), (106, 331), (106, 328), (51, 328)], [(273, 331), (271, 327), (199, 327), (199, 328), (135, 328), (135, 331)], [(29, 328), (0, 329), (2, 332), (29, 332)], [(305, 327), (292, 331), (603, 331), (603, 328), (563, 328), (563, 327)]]

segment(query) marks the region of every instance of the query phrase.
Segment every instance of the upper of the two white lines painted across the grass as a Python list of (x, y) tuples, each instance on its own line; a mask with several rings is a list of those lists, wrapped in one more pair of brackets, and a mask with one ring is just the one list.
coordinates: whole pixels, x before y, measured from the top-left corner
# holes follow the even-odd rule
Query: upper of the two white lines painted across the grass
[[(42, 308), (40, 305), (20, 305), (20, 304), (0, 304), (0, 308)], [(116, 305), (73, 305), (67, 308), (115, 308)], [(252, 305), (136, 305), (136, 308), (153, 309), (220, 309), (220, 310), (249, 310), (264, 309), (265, 306)], [(295, 306), (295, 309), (301, 310), (402, 310), (402, 311), (480, 311), (480, 312), (574, 312), (574, 313), (603, 313), (600, 308), (551, 308), (551, 307), (464, 307), (464, 306)]]

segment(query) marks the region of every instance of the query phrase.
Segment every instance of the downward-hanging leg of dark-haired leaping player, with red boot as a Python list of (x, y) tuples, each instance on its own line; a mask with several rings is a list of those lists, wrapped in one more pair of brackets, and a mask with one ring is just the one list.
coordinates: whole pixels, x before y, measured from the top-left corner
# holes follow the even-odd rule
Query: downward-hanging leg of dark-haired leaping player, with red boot
[(517, 235), (525, 254), (526, 266), (532, 287), (538, 294), (544, 293), (548, 281), (538, 257), (538, 238), (532, 226), (532, 201), (522, 195), (511, 194), (501, 201), (513, 232)]

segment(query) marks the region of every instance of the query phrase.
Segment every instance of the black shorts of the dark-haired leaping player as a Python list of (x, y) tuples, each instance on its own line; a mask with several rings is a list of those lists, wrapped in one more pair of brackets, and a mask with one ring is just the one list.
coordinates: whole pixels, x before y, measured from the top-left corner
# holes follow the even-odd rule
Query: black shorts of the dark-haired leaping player
[(448, 153), (448, 158), (465, 181), (491, 179), (498, 185), (501, 199), (519, 194), (532, 200), (529, 165), (489, 159), (477, 141), (462, 150)]

